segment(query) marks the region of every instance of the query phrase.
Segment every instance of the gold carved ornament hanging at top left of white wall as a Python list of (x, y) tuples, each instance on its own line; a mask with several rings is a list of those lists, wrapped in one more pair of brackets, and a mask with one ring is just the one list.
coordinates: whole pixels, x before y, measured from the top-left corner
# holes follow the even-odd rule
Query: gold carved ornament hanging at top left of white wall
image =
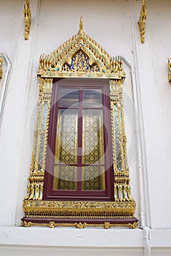
[(31, 10), (29, 0), (25, 0), (23, 15), (25, 23), (25, 40), (28, 40), (31, 26)]

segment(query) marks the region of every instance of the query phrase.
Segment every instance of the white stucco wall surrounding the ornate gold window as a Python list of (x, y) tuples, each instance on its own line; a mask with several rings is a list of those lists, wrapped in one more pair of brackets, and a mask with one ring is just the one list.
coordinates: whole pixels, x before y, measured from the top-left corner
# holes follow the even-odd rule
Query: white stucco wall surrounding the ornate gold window
[[(69, 255), (67, 250), (72, 246), (77, 248), (77, 252), (70, 252), (73, 255), (77, 255), (81, 246), (82, 249), (93, 250), (91, 254), (97, 255), (97, 248), (101, 245), (99, 255), (142, 255), (143, 242), (148, 245), (148, 239), (142, 238), (147, 233), (140, 229), (75, 231), (60, 228), (58, 231), (18, 227), (20, 218), (23, 217), (22, 203), (31, 164), (39, 89), (39, 56), (53, 52), (66, 39), (76, 34), (80, 15), (83, 16), (86, 34), (99, 42), (111, 56), (121, 55), (132, 66), (133, 78), (129, 66), (123, 64), (126, 71), (123, 99), (129, 173), (132, 195), (137, 202), (135, 216), (140, 219), (144, 208), (145, 226), (151, 228), (151, 255), (160, 255), (161, 251), (156, 247), (164, 247), (161, 255), (169, 255), (171, 88), (167, 81), (167, 57), (170, 56), (171, 1), (148, 1), (143, 45), (137, 29), (140, 0), (30, 2), (32, 18), (28, 41), (24, 40), (23, 1), (8, 0), (1, 1), (0, 4), (0, 52), (7, 53), (12, 64), (0, 127), (0, 239), (1, 244), (4, 244), (0, 247), (0, 255), (4, 255), (4, 252), (7, 255), (21, 255), (23, 250), (27, 250), (28, 255), (33, 252), (35, 255), (43, 255), (45, 252), (55, 255), (60, 250), (63, 250), (63, 255)], [(5, 63), (3, 68), (6, 72)], [(0, 86), (3, 81), (0, 81)], [(131, 107), (129, 102), (133, 102)], [(136, 128), (135, 118), (140, 127)], [(139, 133), (137, 138), (136, 134)], [(138, 150), (142, 154), (141, 162), (138, 161)], [(86, 236), (82, 239), (85, 233)], [(71, 243), (65, 238), (70, 239)], [(50, 239), (52, 243), (48, 247)], [(47, 246), (44, 252), (39, 249), (42, 245)], [(87, 255), (89, 251), (82, 251), (82, 255), (83, 253)]]

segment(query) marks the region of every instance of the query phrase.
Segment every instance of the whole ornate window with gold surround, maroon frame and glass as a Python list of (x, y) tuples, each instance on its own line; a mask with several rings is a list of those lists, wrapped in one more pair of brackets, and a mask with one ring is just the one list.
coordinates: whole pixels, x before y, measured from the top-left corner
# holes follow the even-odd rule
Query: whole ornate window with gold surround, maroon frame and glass
[(83, 31), (37, 72), (39, 102), (22, 225), (137, 227), (129, 186), (121, 57)]

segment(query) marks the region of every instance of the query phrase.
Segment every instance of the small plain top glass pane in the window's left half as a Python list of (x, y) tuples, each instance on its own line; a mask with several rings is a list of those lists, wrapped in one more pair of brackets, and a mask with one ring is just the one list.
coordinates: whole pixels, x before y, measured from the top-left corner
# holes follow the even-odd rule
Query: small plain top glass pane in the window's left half
[(59, 107), (77, 108), (79, 100), (78, 89), (60, 89)]

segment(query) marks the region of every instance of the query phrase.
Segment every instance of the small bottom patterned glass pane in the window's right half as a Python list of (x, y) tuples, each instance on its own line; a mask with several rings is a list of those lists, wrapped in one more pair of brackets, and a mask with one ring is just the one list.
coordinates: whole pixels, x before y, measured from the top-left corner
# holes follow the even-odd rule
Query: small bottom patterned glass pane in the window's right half
[(103, 166), (88, 165), (82, 167), (82, 189), (105, 189), (105, 175)]

